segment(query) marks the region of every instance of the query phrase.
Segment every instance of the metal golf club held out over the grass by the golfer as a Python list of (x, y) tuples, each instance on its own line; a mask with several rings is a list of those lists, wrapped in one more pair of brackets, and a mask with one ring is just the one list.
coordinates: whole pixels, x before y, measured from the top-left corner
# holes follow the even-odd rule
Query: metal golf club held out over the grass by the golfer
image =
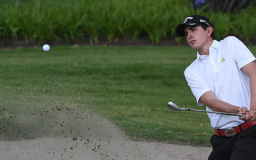
[(244, 114), (239, 114), (239, 113), (225, 113), (220, 111), (205, 111), (205, 110), (199, 110), (199, 109), (179, 108), (179, 106), (177, 106), (177, 104), (173, 102), (168, 102), (167, 106), (169, 109), (172, 109), (173, 111), (200, 111), (200, 112), (216, 113), (216, 114), (229, 115), (229, 116), (244, 116)]

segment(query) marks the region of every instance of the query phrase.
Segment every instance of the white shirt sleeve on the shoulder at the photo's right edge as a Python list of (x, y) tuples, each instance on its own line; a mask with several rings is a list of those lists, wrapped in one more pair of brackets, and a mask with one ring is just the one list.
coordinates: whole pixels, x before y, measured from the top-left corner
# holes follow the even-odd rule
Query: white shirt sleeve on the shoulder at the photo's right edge
[(243, 68), (248, 63), (255, 61), (255, 56), (246, 47), (246, 45), (241, 42), (235, 36), (228, 36), (228, 46), (230, 47), (231, 54), (237, 63), (239, 69)]

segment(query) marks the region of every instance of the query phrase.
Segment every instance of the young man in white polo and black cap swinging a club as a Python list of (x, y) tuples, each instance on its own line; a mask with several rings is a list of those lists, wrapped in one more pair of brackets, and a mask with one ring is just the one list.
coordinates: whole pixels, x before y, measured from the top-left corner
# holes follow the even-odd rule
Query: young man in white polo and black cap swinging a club
[(235, 36), (218, 42), (207, 17), (191, 15), (176, 28), (197, 51), (184, 74), (199, 106), (208, 111), (243, 113), (227, 116), (207, 113), (215, 134), (209, 159), (256, 159), (256, 63)]

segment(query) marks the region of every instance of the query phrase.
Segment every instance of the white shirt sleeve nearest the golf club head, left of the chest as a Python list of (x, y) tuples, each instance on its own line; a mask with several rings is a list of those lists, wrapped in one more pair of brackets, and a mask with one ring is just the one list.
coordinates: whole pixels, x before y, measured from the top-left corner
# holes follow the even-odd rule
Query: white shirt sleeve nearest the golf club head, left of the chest
[(200, 75), (200, 72), (198, 72), (198, 70), (193, 67), (188, 67), (184, 71), (184, 76), (193, 95), (196, 98), (198, 106), (203, 106), (204, 104), (200, 102), (199, 99), (205, 92), (211, 91), (211, 88)]

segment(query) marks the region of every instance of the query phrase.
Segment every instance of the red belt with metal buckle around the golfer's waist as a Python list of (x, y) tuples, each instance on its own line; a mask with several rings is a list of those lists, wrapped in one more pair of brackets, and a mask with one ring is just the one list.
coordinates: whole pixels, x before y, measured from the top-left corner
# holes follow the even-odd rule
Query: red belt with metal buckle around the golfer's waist
[(256, 125), (256, 121), (250, 121), (250, 122), (245, 122), (241, 125), (237, 125), (236, 127), (233, 127), (231, 129), (215, 129), (215, 134), (217, 136), (234, 136), (239, 132), (244, 131), (245, 129), (248, 129), (252, 125)]

